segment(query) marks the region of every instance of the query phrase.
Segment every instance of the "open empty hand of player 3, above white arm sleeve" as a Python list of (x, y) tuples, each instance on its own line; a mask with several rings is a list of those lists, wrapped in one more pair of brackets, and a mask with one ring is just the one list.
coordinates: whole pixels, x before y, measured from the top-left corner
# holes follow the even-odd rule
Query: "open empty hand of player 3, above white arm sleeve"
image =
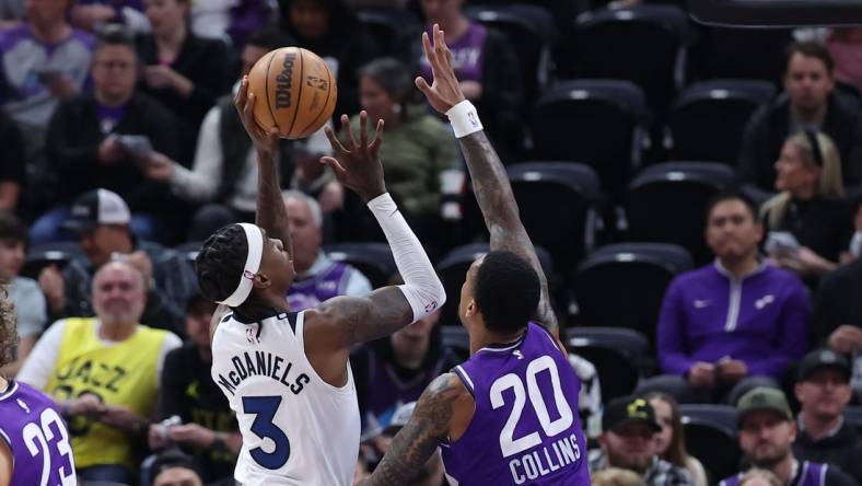
[(347, 134), (342, 144), (330, 127), (326, 127), (326, 137), (333, 146), (335, 157), (323, 157), (321, 162), (329, 165), (336, 178), (349, 187), (365, 201), (370, 201), (386, 192), (383, 181), (383, 165), (380, 162), (380, 146), (383, 141), (383, 120), (377, 120), (374, 140), (369, 143), (368, 118), (365, 111), (359, 113), (359, 142), (350, 129), (350, 119), (341, 115), (341, 127)]

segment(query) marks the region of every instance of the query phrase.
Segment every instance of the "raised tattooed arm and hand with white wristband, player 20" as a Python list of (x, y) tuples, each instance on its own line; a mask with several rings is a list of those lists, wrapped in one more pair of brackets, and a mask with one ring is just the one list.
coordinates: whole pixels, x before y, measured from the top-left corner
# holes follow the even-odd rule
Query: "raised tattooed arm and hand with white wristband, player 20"
[[(440, 113), (444, 113), (454, 119), (455, 116), (468, 118), (478, 131), (458, 137), (461, 150), (467, 160), (467, 169), (473, 178), (473, 189), (485, 217), (485, 224), (491, 235), (491, 250), (508, 250), (526, 258), (533, 269), (536, 270), (541, 282), (541, 299), (536, 310), (536, 320), (551, 331), (558, 333), (557, 315), (550, 304), (548, 292), (548, 279), (541, 269), (536, 248), (529, 241), (524, 224), (517, 210), (517, 202), (512, 194), (512, 185), (509, 183), (505, 169), (497, 155), (497, 151), (491, 147), (478, 116), (473, 105), (467, 105), (461, 84), (452, 69), (452, 53), (449, 50), (444, 39), (444, 33), (434, 24), (434, 43), (431, 44), (427, 33), (422, 33), (422, 48), (426, 57), (431, 63), (433, 82), (428, 85), (421, 77), (416, 78), (416, 85), (426, 95), (428, 102)], [(464, 104), (462, 104), (464, 102)], [(456, 107), (456, 105), (459, 105)], [(469, 108), (471, 114), (464, 113), (462, 109)], [(455, 113), (461, 112), (461, 113)], [(458, 134), (456, 132), (456, 137)]]

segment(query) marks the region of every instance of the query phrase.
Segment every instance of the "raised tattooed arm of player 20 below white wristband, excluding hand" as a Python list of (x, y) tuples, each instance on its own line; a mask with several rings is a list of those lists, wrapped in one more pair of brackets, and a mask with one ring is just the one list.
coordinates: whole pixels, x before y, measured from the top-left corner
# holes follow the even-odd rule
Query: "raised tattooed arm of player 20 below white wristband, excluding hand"
[(535, 319), (548, 329), (556, 329), (557, 315), (550, 304), (548, 279), (541, 269), (536, 250), (519, 216), (512, 185), (497, 151), (484, 131), (458, 139), (473, 178), (473, 190), (491, 235), (491, 250), (508, 250), (526, 258), (541, 284)]

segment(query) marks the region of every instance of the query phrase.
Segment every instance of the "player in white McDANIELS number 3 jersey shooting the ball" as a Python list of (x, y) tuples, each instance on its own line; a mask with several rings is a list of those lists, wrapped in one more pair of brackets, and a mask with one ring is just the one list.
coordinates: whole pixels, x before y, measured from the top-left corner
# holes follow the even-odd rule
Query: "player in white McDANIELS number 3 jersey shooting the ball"
[[(405, 284), (290, 312), (286, 296), (295, 273), (273, 158), (278, 134), (257, 126), (247, 88), (243, 79), (235, 105), (257, 151), (256, 224), (220, 229), (195, 262), (201, 292), (226, 311), (214, 323), (212, 378), (243, 436), (234, 475), (247, 485), (350, 485), (360, 436), (350, 348), (422, 319), (445, 293), (386, 193), (377, 159), (383, 121), (369, 143), (362, 112), (359, 141), (348, 134), (342, 144), (327, 128), (335, 158), (323, 161), (368, 202)], [(349, 126), (347, 116), (341, 120)]]

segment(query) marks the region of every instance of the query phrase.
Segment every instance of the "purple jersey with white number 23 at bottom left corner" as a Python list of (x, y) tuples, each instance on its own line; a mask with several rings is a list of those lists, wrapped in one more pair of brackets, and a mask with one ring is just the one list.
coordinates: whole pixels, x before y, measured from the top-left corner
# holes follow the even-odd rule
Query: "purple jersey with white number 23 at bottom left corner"
[(24, 383), (0, 394), (0, 440), (12, 451), (11, 486), (77, 485), (66, 421), (54, 402)]

